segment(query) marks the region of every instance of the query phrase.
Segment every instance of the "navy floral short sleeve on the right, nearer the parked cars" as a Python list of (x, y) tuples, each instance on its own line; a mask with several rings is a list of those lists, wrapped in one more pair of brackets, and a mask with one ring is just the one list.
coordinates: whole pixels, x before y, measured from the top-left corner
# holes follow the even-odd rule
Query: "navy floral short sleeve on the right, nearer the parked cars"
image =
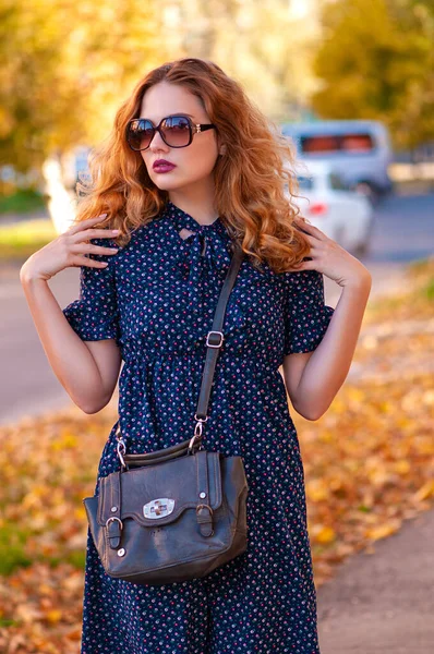
[(311, 352), (323, 340), (335, 310), (324, 304), (324, 279), (317, 270), (286, 274), (285, 351)]

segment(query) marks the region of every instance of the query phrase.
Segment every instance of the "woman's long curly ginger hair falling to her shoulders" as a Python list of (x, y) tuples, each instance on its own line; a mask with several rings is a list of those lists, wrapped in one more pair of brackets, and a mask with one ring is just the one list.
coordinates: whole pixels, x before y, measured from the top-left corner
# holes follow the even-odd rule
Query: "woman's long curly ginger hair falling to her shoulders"
[(202, 101), (226, 145), (213, 170), (214, 201), (231, 239), (255, 267), (265, 262), (275, 272), (297, 270), (310, 243), (294, 222), (300, 213), (292, 201), (298, 197), (294, 146), (237, 81), (203, 59), (165, 63), (136, 84), (118, 109), (111, 133), (89, 155), (91, 182), (76, 184), (75, 222), (106, 213), (98, 226), (120, 229), (117, 241), (123, 247), (132, 231), (166, 206), (168, 192), (150, 180), (141, 154), (125, 138), (126, 123), (140, 116), (144, 94), (164, 81), (182, 85)]

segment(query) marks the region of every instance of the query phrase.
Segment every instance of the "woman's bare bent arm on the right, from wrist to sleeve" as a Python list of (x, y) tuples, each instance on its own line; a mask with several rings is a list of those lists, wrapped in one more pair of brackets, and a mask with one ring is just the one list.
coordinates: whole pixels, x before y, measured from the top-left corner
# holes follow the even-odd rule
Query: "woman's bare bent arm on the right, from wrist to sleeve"
[[(305, 355), (304, 370), (297, 388), (291, 389), (290, 399), (296, 411), (308, 420), (318, 420), (327, 411), (347, 378), (371, 286), (372, 278), (369, 274), (343, 286), (321, 343)], [(284, 377), (288, 389), (291, 356), (300, 358), (303, 354), (290, 354), (284, 361)]]

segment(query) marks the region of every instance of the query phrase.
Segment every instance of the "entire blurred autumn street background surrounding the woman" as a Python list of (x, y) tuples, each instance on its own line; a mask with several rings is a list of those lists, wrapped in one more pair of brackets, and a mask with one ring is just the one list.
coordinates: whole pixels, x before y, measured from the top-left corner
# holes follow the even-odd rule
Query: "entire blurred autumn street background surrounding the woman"
[[(291, 408), (322, 652), (431, 653), (433, 0), (0, 0), (0, 652), (79, 651), (81, 500), (117, 416), (116, 396), (96, 415), (71, 405), (20, 267), (68, 229), (87, 155), (138, 78), (188, 56), (294, 143), (302, 213), (373, 276), (329, 411), (312, 425)], [(79, 270), (50, 287), (67, 306)], [(325, 278), (325, 294), (336, 306), (340, 287)]]

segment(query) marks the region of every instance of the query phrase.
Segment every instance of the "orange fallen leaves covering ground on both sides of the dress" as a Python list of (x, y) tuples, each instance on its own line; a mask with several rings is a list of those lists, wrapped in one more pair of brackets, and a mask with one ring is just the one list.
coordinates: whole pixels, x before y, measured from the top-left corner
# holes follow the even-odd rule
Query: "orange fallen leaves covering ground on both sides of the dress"
[[(398, 311), (418, 318), (418, 328), (376, 326), (361, 336), (353, 374), (320, 421), (304, 421), (290, 408), (302, 450), (316, 585), (346, 557), (374, 553), (379, 538), (433, 506), (427, 364), (434, 339), (426, 304), (415, 301)], [(116, 420), (116, 408), (89, 416), (72, 407), (0, 428), (4, 654), (79, 651), (87, 534), (82, 499), (94, 493), (97, 462)]]

